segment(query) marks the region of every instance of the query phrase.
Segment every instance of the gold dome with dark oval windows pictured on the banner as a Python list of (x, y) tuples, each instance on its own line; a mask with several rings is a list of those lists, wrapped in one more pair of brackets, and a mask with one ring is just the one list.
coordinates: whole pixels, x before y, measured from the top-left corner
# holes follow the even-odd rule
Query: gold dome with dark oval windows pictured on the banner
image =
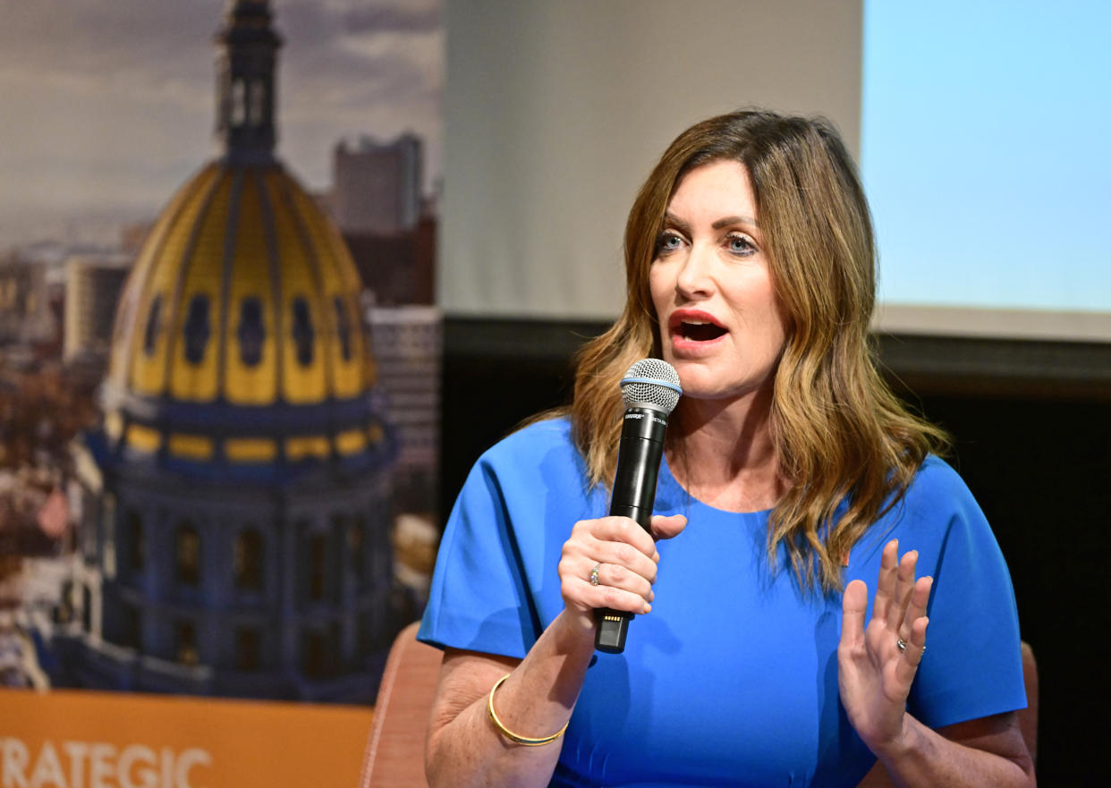
[(276, 159), (206, 166), (124, 288), (110, 442), (231, 463), (367, 451), (383, 433), (360, 290), (339, 232)]

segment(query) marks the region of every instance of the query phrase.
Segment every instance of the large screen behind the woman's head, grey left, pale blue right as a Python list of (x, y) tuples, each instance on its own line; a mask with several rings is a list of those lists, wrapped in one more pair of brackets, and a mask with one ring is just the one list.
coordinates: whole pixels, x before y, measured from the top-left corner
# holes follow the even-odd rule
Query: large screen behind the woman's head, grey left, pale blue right
[(828, 117), (858, 157), (880, 328), (1109, 340), (1109, 22), (1095, 2), (451, 0), (439, 302), (612, 318), (657, 157), (758, 106)]

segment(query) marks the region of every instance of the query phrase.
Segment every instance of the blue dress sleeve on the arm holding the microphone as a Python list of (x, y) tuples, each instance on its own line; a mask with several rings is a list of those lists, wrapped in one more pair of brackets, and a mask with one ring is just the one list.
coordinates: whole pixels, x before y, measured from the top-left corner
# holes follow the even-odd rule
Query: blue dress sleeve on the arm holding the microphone
[(585, 496), (565, 420), (532, 425), (471, 469), (444, 528), (418, 639), (523, 658), (561, 609), (559, 551)]

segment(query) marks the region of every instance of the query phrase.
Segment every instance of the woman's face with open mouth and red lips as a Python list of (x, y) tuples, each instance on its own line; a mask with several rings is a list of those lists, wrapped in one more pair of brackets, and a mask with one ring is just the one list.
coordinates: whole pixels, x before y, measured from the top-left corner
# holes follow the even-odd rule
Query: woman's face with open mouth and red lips
[(668, 206), (649, 286), (684, 397), (737, 399), (770, 385), (787, 321), (758, 221), (737, 161), (691, 170)]

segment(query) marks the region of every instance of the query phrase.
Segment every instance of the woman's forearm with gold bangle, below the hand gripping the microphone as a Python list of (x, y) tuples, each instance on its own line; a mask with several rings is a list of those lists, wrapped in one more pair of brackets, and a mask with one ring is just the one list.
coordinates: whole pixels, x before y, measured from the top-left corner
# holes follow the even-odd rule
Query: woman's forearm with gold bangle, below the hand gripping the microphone
[[(593, 627), (567, 611), (544, 630), (526, 658), (498, 687), (494, 710), (502, 725), (520, 736), (539, 738), (556, 732), (570, 719), (594, 652)], [(476, 666), (464, 666), (471, 671)], [(543, 788), (551, 780), (562, 738), (528, 747), (506, 738), (488, 711), (489, 687), (501, 678), (500, 666), (481, 666), (477, 680), (486, 692), (450, 721), (433, 712), (427, 771), (431, 788), (520, 786)], [(451, 681), (449, 676), (446, 680)], [(474, 695), (474, 692), (471, 692)], [(446, 710), (450, 716), (452, 710)], [(438, 725), (440, 717), (441, 725)]]

